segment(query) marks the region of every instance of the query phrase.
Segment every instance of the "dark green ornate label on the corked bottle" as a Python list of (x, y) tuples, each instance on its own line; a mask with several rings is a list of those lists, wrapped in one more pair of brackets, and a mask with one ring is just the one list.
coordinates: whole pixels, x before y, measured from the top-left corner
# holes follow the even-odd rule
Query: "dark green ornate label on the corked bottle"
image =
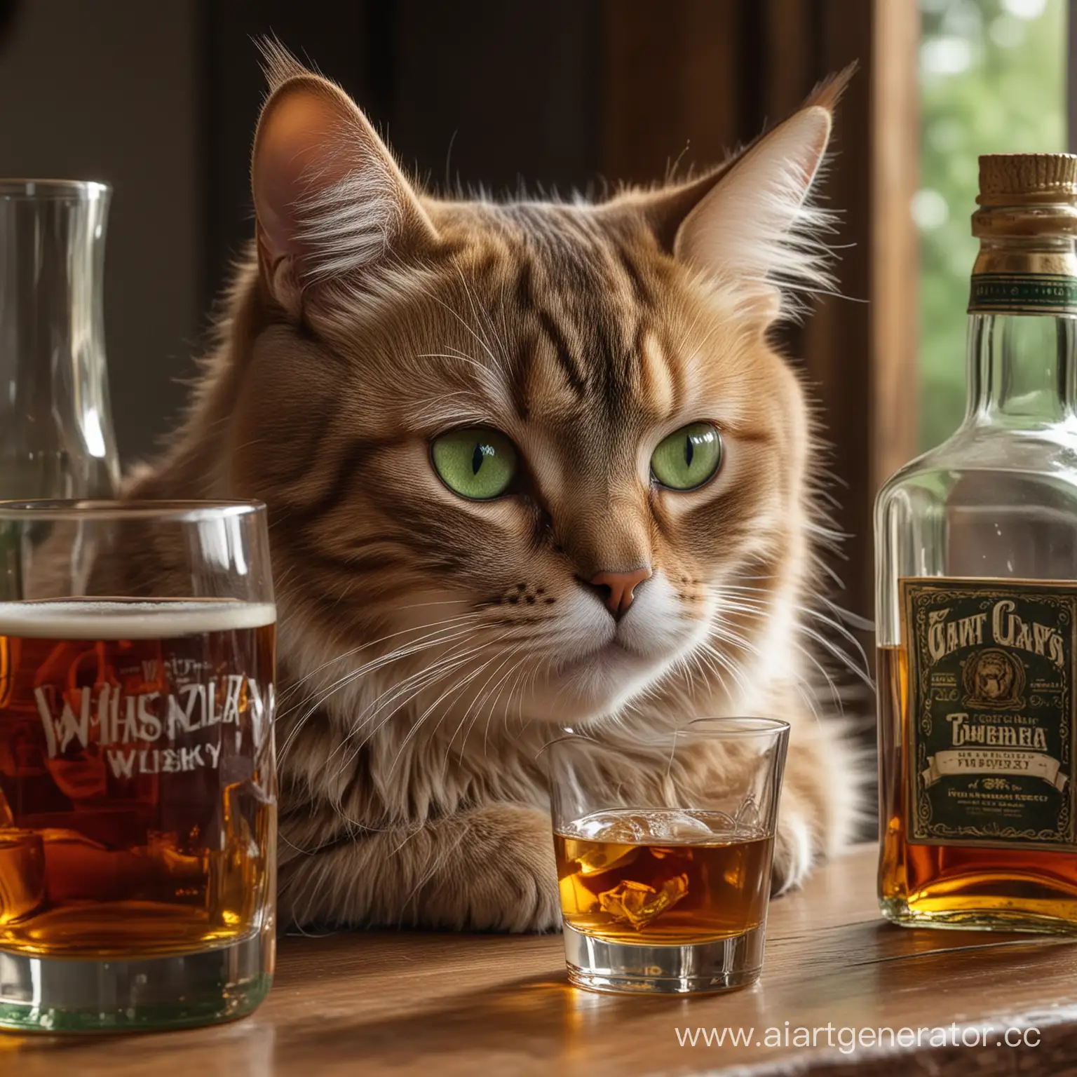
[(908, 840), (1077, 850), (1077, 584), (903, 579)]

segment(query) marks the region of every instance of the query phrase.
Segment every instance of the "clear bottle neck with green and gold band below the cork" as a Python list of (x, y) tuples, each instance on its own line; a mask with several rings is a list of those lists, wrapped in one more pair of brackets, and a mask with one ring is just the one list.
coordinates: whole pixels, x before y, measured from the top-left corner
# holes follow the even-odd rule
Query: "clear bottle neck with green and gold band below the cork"
[[(999, 213), (980, 210), (974, 225), (990, 225)], [(1033, 226), (1045, 223), (1034, 220)], [(1007, 428), (1060, 422), (1077, 412), (1073, 237), (980, 236), (968, 307), (966, 422)]]

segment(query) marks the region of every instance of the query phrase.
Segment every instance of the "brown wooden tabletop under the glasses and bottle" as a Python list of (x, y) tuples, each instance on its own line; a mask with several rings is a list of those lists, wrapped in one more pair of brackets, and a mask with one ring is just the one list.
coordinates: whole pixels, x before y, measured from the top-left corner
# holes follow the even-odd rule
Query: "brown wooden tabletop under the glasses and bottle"
[[(696, 998), (570, 988), (556, 936), (288, 938), (272, 994), (252, 1017), (129, 1037), (0, 1034), (0, 1075), (1077, 1072), (1077, 948), (1034, 936), (889, 925), (876, 911), (873, 847), (853, 850), (802, 892), (777, 900), (768, 936), (758, 984)], [(993, 1025), (987, 1046), (985, 1024)], [(920, 1026), (945, 1026), (947, 1046), (932, 1047), (928, 1032), (919, 1048), (892, 1050), (890, 1033), (882, 1050), (858, 1047), (850, 1054), (841, 1046), (849, 1029), (893, 1029), (901, 1037), (907, 1027), (908, 1040)], [(677, 1030), (711, 1027), (754, 1031), (749, 1046), (731, 1046), (730, 1033), (722, 1047), (707, 1046), (702, 1036), (695, 1047), (681, 1046)], [(768, 1027), (782, 1046), (765, 1046)], [(798, 1027), (819, 1030), (815, 1047), (793, 1046)], [(1011, 1040), (1038, 1046), (996, 1046), (1006, 1027), (1018, 1030)], [(979, 1046), (961, 1046), (962, 1035)]]

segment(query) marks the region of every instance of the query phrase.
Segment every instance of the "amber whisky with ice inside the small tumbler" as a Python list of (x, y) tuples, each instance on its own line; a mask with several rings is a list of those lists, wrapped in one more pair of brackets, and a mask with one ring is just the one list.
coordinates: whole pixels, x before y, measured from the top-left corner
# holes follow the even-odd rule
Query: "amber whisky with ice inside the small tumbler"
[(554, 835), (569, 926), (607, 942), (685, 946), (766, 920), (771, 836), (719, 812), (601, 815)]

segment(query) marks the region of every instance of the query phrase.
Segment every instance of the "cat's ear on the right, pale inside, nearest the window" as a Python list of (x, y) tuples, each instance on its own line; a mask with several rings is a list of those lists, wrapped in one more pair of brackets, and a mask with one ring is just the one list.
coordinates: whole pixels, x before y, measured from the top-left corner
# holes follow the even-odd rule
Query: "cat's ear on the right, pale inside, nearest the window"
[(797, 309), (805, 292), (829, 291), (822, 236), (830, 214), (811, 202), (835, 106), (855, 66), (822, 84), (799, 112), (716, 172), (666, 194), (653, 220), (679, 261), (736, 280), (770, 321)]

